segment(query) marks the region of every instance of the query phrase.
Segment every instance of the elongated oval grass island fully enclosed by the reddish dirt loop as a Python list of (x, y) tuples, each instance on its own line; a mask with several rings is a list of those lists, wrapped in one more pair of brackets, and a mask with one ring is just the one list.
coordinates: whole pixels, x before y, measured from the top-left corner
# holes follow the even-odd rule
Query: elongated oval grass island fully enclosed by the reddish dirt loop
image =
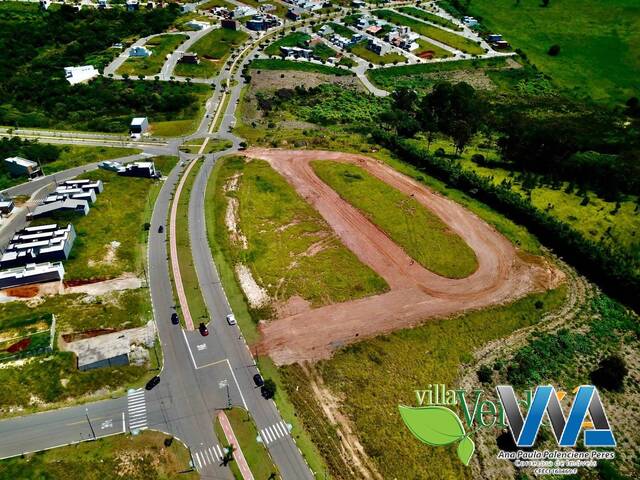
[(464, 278), (478, 268), (473, 251), (464, 241), (413, 198), (355, 165), (318, 161), (312, 166), (325, 183), (428, 270)]

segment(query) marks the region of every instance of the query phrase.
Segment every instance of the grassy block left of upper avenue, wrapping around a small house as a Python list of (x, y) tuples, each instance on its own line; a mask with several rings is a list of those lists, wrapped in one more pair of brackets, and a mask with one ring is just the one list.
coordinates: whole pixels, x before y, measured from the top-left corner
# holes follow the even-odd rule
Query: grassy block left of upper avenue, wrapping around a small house
[(194, 43), (189, 52), (197, 53), (199, 64), (178, 63), (173, 74), (181, 77), (211, 78), (224, 66), (231, 50), (249, 35), (241, 30), (217, 28)]

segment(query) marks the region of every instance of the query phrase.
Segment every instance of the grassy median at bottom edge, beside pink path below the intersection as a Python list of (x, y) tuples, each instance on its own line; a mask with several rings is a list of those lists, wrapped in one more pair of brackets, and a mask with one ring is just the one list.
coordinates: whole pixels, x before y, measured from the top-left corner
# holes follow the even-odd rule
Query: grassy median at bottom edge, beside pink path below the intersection
[[(249, 469), (253, 473), (255, 480), (276, 480), (280, 478), (278, 468), (271, 461), (267, 449), (262, 443), (258, 443), (258, 429), (251, 419), (249, 413), (239, 407), (225, 410), (224, 412), (231, 423), (233, 433), (240, 444), (244, 458), (249, 464)], [(224, 436), (219, 438), (224, 442)], [(272, 475), (274, 475), (272, 477)]]

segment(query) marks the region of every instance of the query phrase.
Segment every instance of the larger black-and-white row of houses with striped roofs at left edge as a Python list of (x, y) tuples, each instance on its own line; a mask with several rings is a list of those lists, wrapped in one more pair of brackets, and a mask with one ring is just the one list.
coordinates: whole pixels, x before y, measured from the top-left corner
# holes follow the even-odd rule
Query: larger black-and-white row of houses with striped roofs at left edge
[(76, 232), (71, 224), (64, 228), (55, 223), (26, 227), (9, 241), (0, 257), (0, 268), (66, 260), (75, 239)]

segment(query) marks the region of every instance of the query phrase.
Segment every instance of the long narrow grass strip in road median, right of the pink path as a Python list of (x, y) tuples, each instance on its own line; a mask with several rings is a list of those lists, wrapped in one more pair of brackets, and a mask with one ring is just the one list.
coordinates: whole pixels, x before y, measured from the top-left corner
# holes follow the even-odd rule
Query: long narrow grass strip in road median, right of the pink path
[[(182, 277), (182, 286), (187, 296), (187, 303), (189, 304), (189, 312), (196, 326), (200, 322), (207, 323), (209, 321), (209, 312), (207, 305), (204, 303), (204, 298), (202, 298), (198, 274), (193, 264), (189, 236), (189, 198), (191, 197), (193, 182), (201, 166), (202, 162), (199, 162), (189, 172), (189, 176), (182, 187), (180, 198), (177, 199), (178, 213), (176, 215), (176, 247), (178, 249), (180, 275)], [(173, 201), (176, 201), (175, 197)], [(184, 316), (181, 315), (180, 318), (183, 319)]]

